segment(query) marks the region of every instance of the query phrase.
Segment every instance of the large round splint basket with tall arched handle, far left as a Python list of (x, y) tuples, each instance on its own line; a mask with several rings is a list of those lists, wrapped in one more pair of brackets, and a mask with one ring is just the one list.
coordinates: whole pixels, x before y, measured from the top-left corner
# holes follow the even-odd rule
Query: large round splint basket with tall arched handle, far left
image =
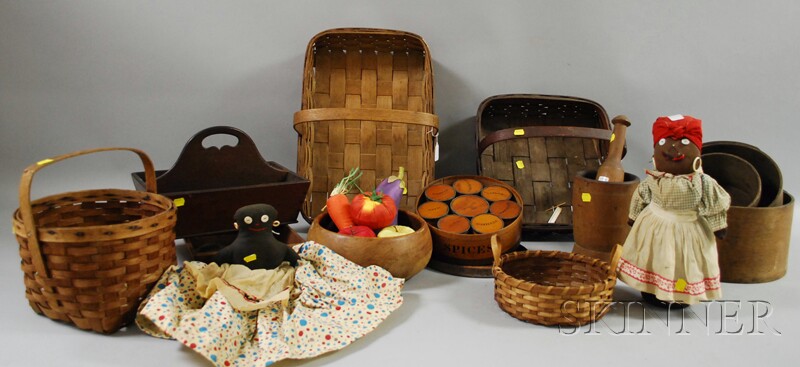
[[(39, 169), (109, 150), (139, 155), (146, 192), (86, 190), (31, 201), (31, 181)], [(156, 194), (155, 182), (150, 158), (131, 148), (83, 150), (25, 169), (13, 225), (25, 296), (36, 313), (100, 333), (133, 320), (142, 298), (176, 263), (175, 207)]]

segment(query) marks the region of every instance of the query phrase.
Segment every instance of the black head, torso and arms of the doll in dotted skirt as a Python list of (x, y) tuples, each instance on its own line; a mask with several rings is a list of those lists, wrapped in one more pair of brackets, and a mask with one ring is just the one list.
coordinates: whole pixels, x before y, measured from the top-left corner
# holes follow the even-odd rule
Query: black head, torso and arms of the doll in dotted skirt
[(233, 217), (239, 234), (217, 254), (218, 264), (241, 264), (250, 269), (274, 269), (284, 261), (297, 265), (297, 253), (272, 235), (272, 229), (280, 225), (275, 208), (267, 204), (243, 206)]

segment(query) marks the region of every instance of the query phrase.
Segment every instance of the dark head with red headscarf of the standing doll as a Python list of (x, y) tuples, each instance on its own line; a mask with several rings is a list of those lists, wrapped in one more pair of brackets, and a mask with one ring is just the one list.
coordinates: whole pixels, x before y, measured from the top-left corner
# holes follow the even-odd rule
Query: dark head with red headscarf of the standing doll
[(703, 145), (701, 122), (691, 116), (659, 117), (653, 123), (653, 161), (656, 169), (674, 175), (695, 171)]

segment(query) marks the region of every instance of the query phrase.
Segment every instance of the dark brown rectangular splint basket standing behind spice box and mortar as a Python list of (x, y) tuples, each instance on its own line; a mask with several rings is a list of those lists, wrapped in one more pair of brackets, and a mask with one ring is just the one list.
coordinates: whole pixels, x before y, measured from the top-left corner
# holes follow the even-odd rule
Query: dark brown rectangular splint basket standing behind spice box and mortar
[(572, 178), (597, 169), (608, 152), (605, 109), (576, 97), (498, 95), (481, 103), (476, 122), (478, 174), (519, 191), (523, 230), (571, 231)]

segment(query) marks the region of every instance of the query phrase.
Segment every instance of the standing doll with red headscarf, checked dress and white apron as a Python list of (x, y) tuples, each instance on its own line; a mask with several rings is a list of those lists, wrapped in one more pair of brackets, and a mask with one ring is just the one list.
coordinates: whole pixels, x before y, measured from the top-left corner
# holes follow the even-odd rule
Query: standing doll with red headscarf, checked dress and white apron
[(730, 196), (702, 171), (701, 121), (659, 117), (653, 162), (631, 199), (633, 225), (623, 246), (619, 279), (660, 306), (722, 297), (715, 236), (727, 227)]

